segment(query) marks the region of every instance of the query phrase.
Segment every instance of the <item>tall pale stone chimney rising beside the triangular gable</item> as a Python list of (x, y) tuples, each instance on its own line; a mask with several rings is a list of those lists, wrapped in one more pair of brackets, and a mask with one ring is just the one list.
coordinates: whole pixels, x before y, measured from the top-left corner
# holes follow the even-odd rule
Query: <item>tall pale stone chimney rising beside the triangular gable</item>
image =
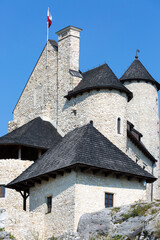
[[(82, 29), (68, 26), (58, 31), (58, 84), (63, 90), (63, 96), (72, 90), (81, 78), (70, 73), (70, 70), (79, 72), (79, 42)], [(76, 74), (75, 74), (76, 75)]]

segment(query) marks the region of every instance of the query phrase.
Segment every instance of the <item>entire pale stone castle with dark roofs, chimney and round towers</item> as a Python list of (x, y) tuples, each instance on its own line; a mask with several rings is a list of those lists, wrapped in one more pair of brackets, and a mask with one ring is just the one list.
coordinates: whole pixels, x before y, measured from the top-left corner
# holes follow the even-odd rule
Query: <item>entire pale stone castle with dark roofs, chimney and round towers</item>
[(82, 73), (80, 32), (48, 41), (0, 138), (0, 208), (17, 239), (24, 226), (47, 239), (86, 212), (160, 199), (160, 85), (137, 56), (120, 79), (107, 64)]

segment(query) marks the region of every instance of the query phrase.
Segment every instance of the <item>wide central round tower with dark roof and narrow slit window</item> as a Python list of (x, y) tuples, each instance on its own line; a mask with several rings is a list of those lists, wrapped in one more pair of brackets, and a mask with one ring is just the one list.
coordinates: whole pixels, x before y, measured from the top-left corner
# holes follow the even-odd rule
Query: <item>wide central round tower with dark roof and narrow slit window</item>
[[(126, 151), (127, 103), (132, 93), (123, 86), (107, 64), (82, 73), (81, 82), (68, 93), (67, 127), (93, 121), (94, 126), (122, 151)], [(75, 114), (71, 113), (74, 106)], [(69, 113), (70, 112), (70, 113)]]

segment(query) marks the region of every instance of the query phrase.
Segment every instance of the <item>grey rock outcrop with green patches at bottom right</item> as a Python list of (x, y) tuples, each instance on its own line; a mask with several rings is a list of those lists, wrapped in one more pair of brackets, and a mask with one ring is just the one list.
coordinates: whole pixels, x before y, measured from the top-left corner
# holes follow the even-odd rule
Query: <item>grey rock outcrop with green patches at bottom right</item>
[(79, 240), (160, 239), (160, 201), (136, 203), (84, 214), (77, 233), (58, 238)]

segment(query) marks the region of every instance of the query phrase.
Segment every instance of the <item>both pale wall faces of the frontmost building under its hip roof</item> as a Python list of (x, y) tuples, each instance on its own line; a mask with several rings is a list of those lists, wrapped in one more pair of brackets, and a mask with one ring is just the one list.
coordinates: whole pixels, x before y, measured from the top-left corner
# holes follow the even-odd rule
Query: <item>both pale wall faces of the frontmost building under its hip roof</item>
[[(44, 214), (46, 238), (58, 236), (76, 231), (82, 214), (103, 209), (105, 192), (114, 194), (115, 207), (146, 200), (144, 183), (137, 179), (72, 171), (31, 188), (30, 210)], [(52, 196), (52, 212), (46, 214), (48, 196)]]

